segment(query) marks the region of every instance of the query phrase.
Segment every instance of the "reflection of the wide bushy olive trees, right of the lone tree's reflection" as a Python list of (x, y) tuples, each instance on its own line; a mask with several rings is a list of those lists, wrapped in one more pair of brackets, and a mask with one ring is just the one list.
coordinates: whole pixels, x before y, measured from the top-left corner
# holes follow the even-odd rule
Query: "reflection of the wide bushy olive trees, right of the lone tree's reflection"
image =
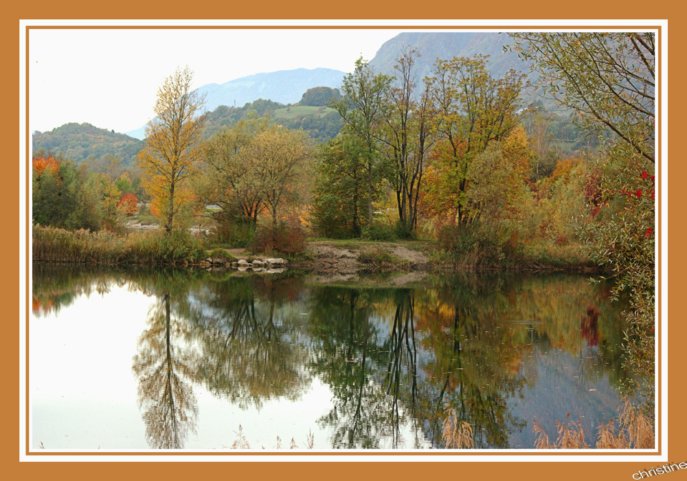
[(194, 379), (242, 409), (297, 399), (310, 377), (296, 313), (286, 309), (302, 289), (294, 282), (232, 278), (194, 291), (189, 319), (203, 352)]

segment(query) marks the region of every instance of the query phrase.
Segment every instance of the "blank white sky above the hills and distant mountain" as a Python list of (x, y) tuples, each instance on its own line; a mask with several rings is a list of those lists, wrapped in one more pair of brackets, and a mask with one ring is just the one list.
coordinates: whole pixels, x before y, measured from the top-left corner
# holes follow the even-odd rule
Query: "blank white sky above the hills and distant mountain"
[(177, 67), (193, 87), (297, 68), (350, 72), (401, 30), (45, 29), (29, 34), (29, 128), (88, 122), (133, 131), (153, 117), (157, 89)]

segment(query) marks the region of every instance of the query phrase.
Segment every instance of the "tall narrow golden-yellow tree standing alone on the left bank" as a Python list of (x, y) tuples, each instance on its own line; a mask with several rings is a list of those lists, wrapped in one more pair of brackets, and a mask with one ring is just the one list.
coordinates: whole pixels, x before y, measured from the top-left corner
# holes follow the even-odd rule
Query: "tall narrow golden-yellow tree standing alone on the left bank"
[(146, 126), (146, 147), (138, 154), (144, 187), (154, 197), (167, 234), (189, 201), (185, 184), (199, 170), (203, 98), (191, 89), (192, 71), (177, 69), (157, 91), (155, 118)]

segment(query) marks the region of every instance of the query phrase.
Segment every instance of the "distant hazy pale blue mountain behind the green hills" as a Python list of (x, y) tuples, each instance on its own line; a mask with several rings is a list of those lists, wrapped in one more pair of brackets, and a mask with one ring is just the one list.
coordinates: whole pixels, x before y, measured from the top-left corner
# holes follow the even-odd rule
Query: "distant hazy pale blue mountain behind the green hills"
[[(220, 105), (240, 108), (258, 99), (295, 104), (305, 91), (313, 87), (340, 87), (344, 75), (344, 72), (335, 69), (279, 70), (236, 78), (223, 84), (202, 85), (196, 90), (205, 95), (205, 109), (208, 112), (214, 111)], [(126, 134), (143, 139), (145, 127)]]

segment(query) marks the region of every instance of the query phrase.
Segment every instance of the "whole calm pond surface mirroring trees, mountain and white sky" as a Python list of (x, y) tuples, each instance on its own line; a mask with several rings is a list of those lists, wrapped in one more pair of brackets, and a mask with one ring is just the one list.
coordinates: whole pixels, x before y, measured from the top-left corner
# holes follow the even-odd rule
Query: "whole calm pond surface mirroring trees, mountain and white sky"
[[(363, 285), (364, 284), (364, 285)], [(230, 273), (38, 265), (34, 449), (534, 446), (532, 420), (616, 416), (622, 305), (585, 276), (323, 286)], [(373, 286), (373, 287), (370, 287)], [(240, 426), (240, 428), (239, 428)], [(279, 438), (279, 440), (278, 440)]]

